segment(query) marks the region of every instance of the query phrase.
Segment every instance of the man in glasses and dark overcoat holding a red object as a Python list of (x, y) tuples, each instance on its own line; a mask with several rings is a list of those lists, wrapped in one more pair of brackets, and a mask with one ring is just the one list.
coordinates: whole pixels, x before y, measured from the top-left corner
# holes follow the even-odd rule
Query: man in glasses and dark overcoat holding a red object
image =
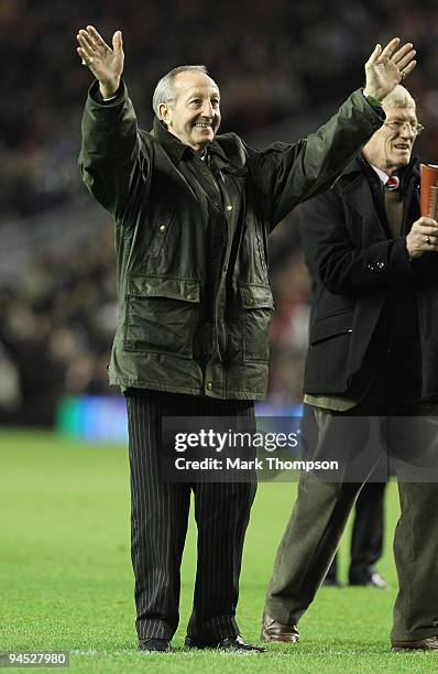
[(340, 458), (341, 468), (332, 479), (300, 478), (267, 590), (265, 641), (298, 641), (296, 623), (363, 482), (382, 461), (375, 446), (384, 438), (395, 455), (402, 506), (392, 646), (438, 649), (437, 433), (427, 417), (438, 410), (438, 224), (419, 217), (412, 150), (423, 128), (415, 101), (397, 86), (383, 108), (386, 120), (363, 153), (302, 210), (317, 283), (305, 402), (319, 428), (315, 458)]

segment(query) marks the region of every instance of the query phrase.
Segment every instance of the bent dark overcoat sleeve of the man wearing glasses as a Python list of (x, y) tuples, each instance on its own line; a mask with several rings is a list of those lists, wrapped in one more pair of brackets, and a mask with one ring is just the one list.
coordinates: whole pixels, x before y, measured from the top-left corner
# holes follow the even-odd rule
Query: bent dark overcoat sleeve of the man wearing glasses
[(333, 294), (363, 295), (396, 282), (414, 282), (404, 237), (363, 248), (346, 225), (339, 187), (300, 208), (300, 233), (311, 273)]

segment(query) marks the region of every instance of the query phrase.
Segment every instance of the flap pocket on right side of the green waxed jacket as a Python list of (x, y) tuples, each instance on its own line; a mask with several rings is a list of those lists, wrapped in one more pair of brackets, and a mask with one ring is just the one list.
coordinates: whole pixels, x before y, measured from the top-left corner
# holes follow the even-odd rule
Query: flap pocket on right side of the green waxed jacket
[(267, 361), (270, 348), (267, 330), (274, 301), (269, 285), (248, 284), (240, 286), (242, 308), (243, 360)]

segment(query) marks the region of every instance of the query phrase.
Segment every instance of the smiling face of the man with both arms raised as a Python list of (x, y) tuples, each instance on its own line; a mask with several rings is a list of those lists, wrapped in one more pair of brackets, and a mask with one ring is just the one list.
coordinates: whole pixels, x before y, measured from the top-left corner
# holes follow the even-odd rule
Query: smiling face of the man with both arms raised
[(160, 106), (161, 118), (183, 143), (202, 152), (219, 129), (219, 89), (208, 75), (186, 70), (175, 76), (174, 90), (173, 106)]

